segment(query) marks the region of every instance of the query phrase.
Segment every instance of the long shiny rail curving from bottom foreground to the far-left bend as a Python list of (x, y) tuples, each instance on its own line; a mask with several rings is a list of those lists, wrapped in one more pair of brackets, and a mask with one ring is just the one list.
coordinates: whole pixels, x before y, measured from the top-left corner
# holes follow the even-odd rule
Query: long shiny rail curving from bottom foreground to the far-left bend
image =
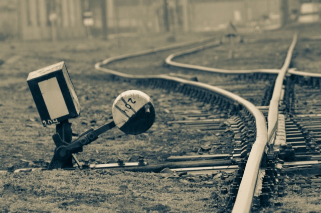
[[(154, 52), (154, 50), (147, 50), (144, 51), (145, 54), (150, 53), (150, 52)], [(246, 192), (246, 196), (250, 195), (250, 197), (248, 199), (251, 199), (251, 201), (249, 202), (249, 204), (247, 205), (248, 209), (250, 209), (251, 203), (252, 203), (252, 197), (253, 197), (253, 193), (254, 193), (254, 189), (255, 189), (255, 183), (257, 180), (257, 174), (258, 174), (258, 169), (260, 167), (261, 164), (261, 159), (264, 153), (264, 149), (266, 147), (267, 144), (267, 127), (266, 127), (266, 120), (264, 115), (261, 113), (261, 111), (251, 102), (249, 102), (248, 100), (232, 93), (229, 92), (227, 90), (224, 90), (222, 88), (216, 87), (216, 86), (212, 86), (206, 83), (202, 83), (202, 82), (195, 82), (195, 81), (190, 81), (190, 80), (185, 80), (182, 78), (178, 78), (178, 77), (173, 77), (173, 76), (168, 76), (168, 75), (132, 75), (132, 74), (125, 74), (119, 71), (115, 71), (112, 69), (108, 69), (105, 67), (102, 67), (102, 65), (106, 65), (111, 61), (114, 60), (119, 60), (119, 59), (123, 59), (126, 57), (132, 57), (135, 55), (142, 55), (144, 53), (133, 53), (133, 55), (131, 54), (126, 54), (126, 55), (122, 55), (122, 56), (117, 56), (117, 57), (112, 57), (112, 58), (107, 58), (102, 62), (98, 62), (95, 64), (95, 68), (97, 70), (100, 71), (104, 71), (106, 73), (112, 74), (112, 75), (116, 75), (116, 76), (120, 76), (120, 77), (125, 77), (125, 78), (134, 78), (134, 79), (163, 79), (163, 80), (169, 80), (169, 81), (175, 81), (177, 83), (180, 83), (180, 85), (187, 85), (187, 86), (193, 86), (193, 87), (198, 87), (198, 88), (202, 88), (211, 92), (214, 92), (216, 94), (219, 94), (229, 100), (232, 100), (234, 102), (237, 102), (239, 104), (241, 104), (250, 114), (252, 114), (252, 116), (255, 119), (255, 125), (256, 125), (256, 139), (255, 142), (252, 146), (252, 149), (254, 149), (255, 151), (253, 151), (253, 154), (250, 154), (249, 156), (249, 160), (248, 160), (248, 165), (245, 168), (245, 173), (244, 173), (244, 178), (246, 179), (247, 182), (251, 182), (250, 184), (250, 188), (249, 186), (247, 186), (246, 188), (244, 188), (244, 186), (242, 186), (241, 191), (242, 193)], [(188, 68), (188, 65), (186, 65)], [(251, 152), (252, 153), (252, 152)], [(244, 183), (243, 183), (244, 185)], [(244, 188), (244, 189), (243, 189)], [(249, 210), (248, 210), (249, 211)], [(238, 211), (241, 212), (241, 211)], [(242, 211), (245, 212), (245, 211)]]

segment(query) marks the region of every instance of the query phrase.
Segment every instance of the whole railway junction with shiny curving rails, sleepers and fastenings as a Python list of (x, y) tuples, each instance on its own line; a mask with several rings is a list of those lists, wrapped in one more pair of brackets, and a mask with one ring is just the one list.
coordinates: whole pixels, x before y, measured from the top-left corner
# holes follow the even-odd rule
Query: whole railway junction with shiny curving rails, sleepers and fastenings
[[(202, 42), (210, 40), (212, 39)], [(227, 193), (227, 203), (230, 205), (234, 203), (232, 212), (249, 212), (254, 196), (261, 198), (262, 205), (268, 205), (268, 199), (273, 190), (281, 193), (279, 189), (281, 187), (274, 187), (272, 182), (282, 182), (284, 171), (290, 173), (298, 166), (307, 173), (319, 171), (321, 143), (318, 138), (321, 137), (321, 123), (318, 122), (318, 118), (321, 117), (321, 112), (318, 112), (318, 106), (320, 103), (309, 97), (317, 96), (315, 90), (320, 89), (321, 75), (289, 69), (296, 40), (297, 34), (293, 37), (285, 62), (280, 69), (225, 70), (173, 61), (176, 56), (218, 46), (220, 45), (219, 40), (170, 54), (166, 58), (167, 64), (177, 67), (175, 71), (187, 68), (209, 72), (204, 75), (205, 77), (201, 76), (201, 79), (206, 78), (204, 81), (207, 82), (196, 81), (194, 76), (185, 75), (181, 70), (179, 73), (171, 73), (173, 70), (164, 66), (162, 69), (167, 69), (168, 73), (149, 75), (134, 74), (136, 70), (133, 70), (133, 73), (124, 73), (126, 71), (123, 71), (122, 67), (119, 68), (121, 71), (106, 68), (110, 63), (128, 58), (136, 60), (137, 58), (134, 57), (144, 57), (158, 52), (168, 55), (168, 50), (173, 51), (174, 48), (184, 47), (191, 43), (121, 55), (96, 63), (97, 70), (108, 73), (114, 80), (136, 83), (146, 88), (160, 87), (183, 93), (192, 96), (193, 101), (202, 102), (200, 108), (206, 104), (210, 105), (211, 110), (209, 111), (199, 110), (200, 108), (194, 108), (190, 112), (181, 111), (179, 113), (184, 119), (167, 123), (168, 125), (183, 124), (201, 131), (232, 133), (235, 148), (230, 153), (218, 154), (204, 147), (198, 151), (199, 153), (205, 152), (203, 154), (171, 156), (167, 159), (177, 161), (177, 163), (150, 164), (143, 167), (133, 164), (132, 167), (123, 167), (119, 161), (114, 165), (85, 162), (86, 166), (154, 172), (169, 167), (175, 172), (191, 174), (211, 174), (217, 170), (233, 171), (236, 175), (224, 177), (227, 185), (230, 185), (229, 192), (226, 191), (227, 187), (224, 187), (224, 193)], [(215, 77), (210, 78), (211, 75)], [(237, 83), (235, 86), (223, 83), (228, 80), (234, 80)], [(248, 81), (251, 83), (256, 81), (256, 85), (249, 85)], [(248, 92), (251, 88), (259, 88), (259, 92), (255, 94)], [(296, 91), (301, 91), (301, 93)], [(309, 95), (304, 95), (306, 93)], [(302, 102), (304, 106), (300, 105)], [(223, 115), (220, 116), (220, 114)], [(278, 159), (277, 155), (282, 159)], [(202, 159), (202, 162), (195, 159)], [(185, 164), (186, 160), (195, 160), (195, 163), (189, 161)], [(294, 162), (284, 162), (287, 160)], [(280, 162), (283, 166), (277, 167), (276, 164)], [(193, 164), (197, 167), (193, 167)], [(8, 170), (13, 171), (13, 168), (8, 168)], [(29, 170), (32, 169), (29, 168)], [(16, 172), (19, 171), (23, 169), (16, 170)], [(260, 181), (261, 179), (263, 182)], [(316, 179), (315, 182), (318, 182), (318, 178)]]

